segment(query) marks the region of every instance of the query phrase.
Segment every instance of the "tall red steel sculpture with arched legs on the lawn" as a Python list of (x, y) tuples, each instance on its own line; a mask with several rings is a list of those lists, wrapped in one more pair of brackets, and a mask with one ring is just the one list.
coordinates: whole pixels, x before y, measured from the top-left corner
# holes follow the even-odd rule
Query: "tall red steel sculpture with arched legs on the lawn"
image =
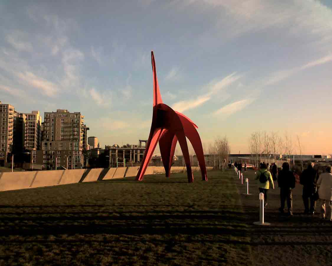
[(164, 104), (158, 86), (156, 63), (154, 61), (153, 51), (151, 51), (152, 72), (153, 72), (153, 115), (150, 129), (150, 135), (146, 143), (142, 164), (138, 170), (136, 180), (142, 181), (145, 170), (150, 162), (152, 153), (159, 141), (161, 158), (164, 164), (166, 177), (169, 177), (173, 162), (174, 151), (179, 141), (186, 162), (188, 182), (194, 182), (194, 176), (191, 169), (190, 157), (186, 137), (193, 145), (201, 172), (202, 180), (207, 181), (207, 170), (203, 154), (203, 147), (198, 128), (184, 114), (174, 111), (171, 107)]

